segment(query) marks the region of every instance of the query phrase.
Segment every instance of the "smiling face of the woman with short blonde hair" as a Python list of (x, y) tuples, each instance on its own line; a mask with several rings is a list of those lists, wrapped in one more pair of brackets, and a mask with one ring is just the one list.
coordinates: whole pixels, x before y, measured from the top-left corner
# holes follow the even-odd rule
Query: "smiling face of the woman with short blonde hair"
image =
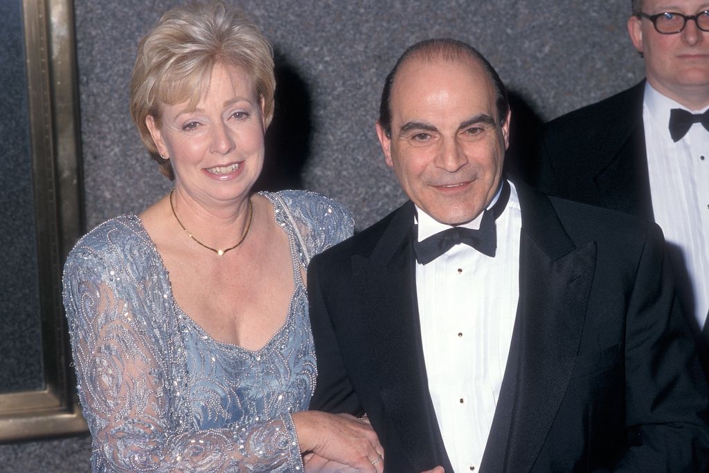
[(246, 198), (264, 161), (264, 104), (254, 78), (218, 63), (195, 110), (187, 104), (163, 104), (159, 126), (146, 118), (175, 186), (207, 207)]

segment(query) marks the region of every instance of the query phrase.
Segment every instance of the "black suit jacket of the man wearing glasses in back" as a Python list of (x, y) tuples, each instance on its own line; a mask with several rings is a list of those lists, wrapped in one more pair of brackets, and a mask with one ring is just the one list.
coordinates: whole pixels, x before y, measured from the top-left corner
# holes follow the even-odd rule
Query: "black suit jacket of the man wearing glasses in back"
[[(551, 195), (620, 210), (654, 221), (642, 121), (645, 81), (615, 96), (562, 115), (542, 132), (540, 163), (533, 185)], [(669, 246), (675, 277), (687, 290), (684, 256)], [(699, 334), (703, 365), (709, 374), (709, 324), (697, 326), (693, 296), (683, 294), (685, 312)]]

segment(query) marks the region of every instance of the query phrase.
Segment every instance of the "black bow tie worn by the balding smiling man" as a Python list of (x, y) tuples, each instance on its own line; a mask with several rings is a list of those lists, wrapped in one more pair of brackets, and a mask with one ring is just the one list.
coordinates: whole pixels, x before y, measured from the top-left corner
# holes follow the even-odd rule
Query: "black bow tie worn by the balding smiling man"
[[(483, 212), (479, 229), (453, 227), (433, 234), (423, 241), (414, 239), (413, 251), (416, 253), (416, 261), (420, 264), (428, 264), (459, 243), (472, 246), (487, 256), (495, 256), (497, 249), (495, 220), (507, 207), (509, 198), (510, 185), (507, 181), (503, 181), (500, 197), (491, 209)], [(418, 225), (415, 225), (415, 234), (418, 234)]]

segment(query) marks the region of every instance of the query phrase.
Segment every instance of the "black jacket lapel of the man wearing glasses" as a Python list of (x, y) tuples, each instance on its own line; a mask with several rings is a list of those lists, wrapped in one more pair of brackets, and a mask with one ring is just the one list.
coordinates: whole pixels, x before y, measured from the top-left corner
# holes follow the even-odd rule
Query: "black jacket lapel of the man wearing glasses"
[(598, 156), (610, 156), (594, 178), (603, 207), (652, 220), (652, 200), (642, 122), (644, 81), (620, 103), (615, 127), (599, 144)]

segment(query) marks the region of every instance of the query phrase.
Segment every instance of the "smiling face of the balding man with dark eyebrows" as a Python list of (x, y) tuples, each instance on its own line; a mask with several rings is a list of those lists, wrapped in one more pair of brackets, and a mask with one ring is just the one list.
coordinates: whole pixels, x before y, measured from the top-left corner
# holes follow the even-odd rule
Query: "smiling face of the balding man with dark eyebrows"
[(474, 220), (498, 189), (510, 115), (474, 59), (408, 59), (391, 91), (391, 137), (377, 124), (386, 164), (413, 203), (438, 222)]

